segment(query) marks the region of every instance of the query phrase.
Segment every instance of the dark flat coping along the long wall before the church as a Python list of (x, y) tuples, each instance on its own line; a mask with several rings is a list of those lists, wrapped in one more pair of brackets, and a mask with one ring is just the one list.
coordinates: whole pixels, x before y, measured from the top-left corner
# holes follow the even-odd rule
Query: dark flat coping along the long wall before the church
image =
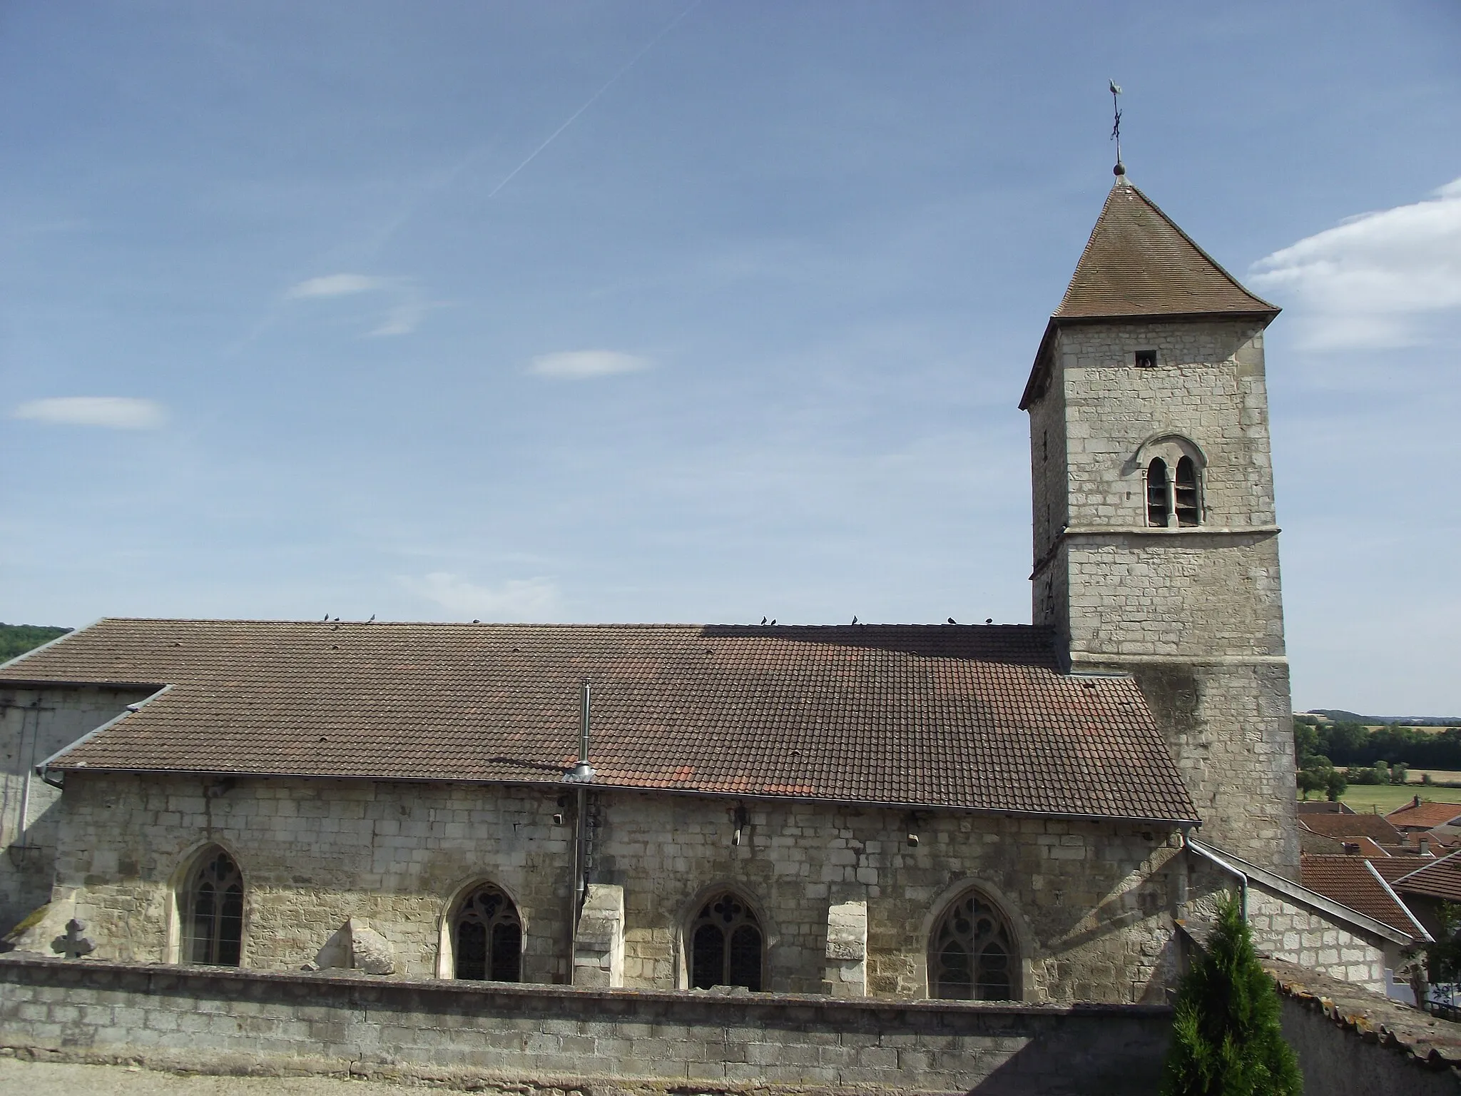
[[(719, 992), (707, 989), (600, 989), (592, 986), (541, 985), (530, 982), (465, 982), (446, 978), (386, 978), (355, 970), (294, 972), (251, 970), (247, 967), (202, 967), (174, 963), (126, 963), (105, 959), (56, 959), (31, 951), (9, 951), (0, 954), (0, 981), (6, 981), (4, 967), (18, 967), (42, 975), (45, 981), (64, 985), (86, 979), (88, 975), (142, 975), (162, 982), (215, 982), (276, 986), (337, 986), (373, 994), (435, 992), (465, 997), (508, 997), (549, 1001), (603, 1001), (643, 1002), (659, 1001), (675, 1005), (720, 1005), (735, 1004), (754, 1011), (840, 1011), (840, 1013), (948, 1013), (979, 1016), (1090, 1016), (1090, 1017), (1156, 1017), (1172, 1016), (1166, 1004), (1119, 1004), (1103, 1001), (1072, 1001), (1056, 1004), (1030, 1004), (1024, 1001), (942, 1001), (900, 1000), (887, 997), (827, 997), (821, 994), (752, 994)], [(1332, 981), (1332, 979), (1331, 979)], [(1343, 985), (1343, 983), (1341, 983)], [(1455, 1024), (1452, 1024), (1455, 1026)]]

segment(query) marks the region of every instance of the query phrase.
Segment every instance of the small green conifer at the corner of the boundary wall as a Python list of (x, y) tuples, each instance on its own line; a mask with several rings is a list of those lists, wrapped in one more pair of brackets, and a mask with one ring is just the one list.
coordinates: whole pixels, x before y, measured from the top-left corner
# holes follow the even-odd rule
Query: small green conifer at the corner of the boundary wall
[(1278, 992), (1237, 896), (1218, 906), (1207, 951), (1178, 988), (1163, 1096), (1297, 1096), (1299, 1062), (1278, 1026)]

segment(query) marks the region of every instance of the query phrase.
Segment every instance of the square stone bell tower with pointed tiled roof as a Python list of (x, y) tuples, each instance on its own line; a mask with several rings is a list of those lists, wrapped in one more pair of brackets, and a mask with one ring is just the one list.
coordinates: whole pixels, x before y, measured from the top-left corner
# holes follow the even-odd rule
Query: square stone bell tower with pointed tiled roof
[(1289, 662), (1254, 297), (1126, 178), (1036, 354), (1034, 623), (1132, 674), (1199, 837), (1297, 875)]

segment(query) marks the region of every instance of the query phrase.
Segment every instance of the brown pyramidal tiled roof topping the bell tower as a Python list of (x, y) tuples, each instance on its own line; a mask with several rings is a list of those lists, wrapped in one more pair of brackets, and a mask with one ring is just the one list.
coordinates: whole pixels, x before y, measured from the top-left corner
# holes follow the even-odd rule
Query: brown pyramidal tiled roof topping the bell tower
[(1213, 313), (1274, 316), (1278, 308), (1248, 292), (1125, 174), (1118, 175), (1052, 319)]

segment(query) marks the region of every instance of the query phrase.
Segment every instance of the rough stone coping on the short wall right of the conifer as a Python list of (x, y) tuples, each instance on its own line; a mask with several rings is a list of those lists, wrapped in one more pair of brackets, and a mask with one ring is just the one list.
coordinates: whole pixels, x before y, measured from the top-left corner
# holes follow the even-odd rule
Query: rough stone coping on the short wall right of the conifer
[(1265, 959), (1264, 969), (1280, 994), (1322, 1011), (1344, 1032), (1403, 1049), (1429, 1068), (1461, 1068), (1461, 1024), (1293, 963)]

